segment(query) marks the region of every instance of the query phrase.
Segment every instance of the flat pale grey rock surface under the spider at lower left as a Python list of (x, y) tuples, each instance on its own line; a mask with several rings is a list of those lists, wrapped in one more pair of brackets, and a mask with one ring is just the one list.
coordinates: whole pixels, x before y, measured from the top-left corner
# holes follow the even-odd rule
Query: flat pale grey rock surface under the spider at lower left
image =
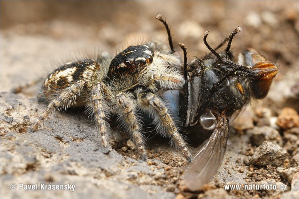
[[(59, 194), (63, 198), (103, 196), (130, 199), (175, 196), (158, 184), (163, 182), (167, 189), (169, 182), (165, 181), (168, 176), (177, 176), (180, 170), (174, 168), (166, 173), (166, 165), (162, 162), (148, 166), (144, 161), (124, 158), (115, 150), (105, 155), (93, 123), (84, 115), (57, 114), (45, 122), (45, 128), (26, 133), (29, 123), (42, 109), (43, 106), (38, 105), (35, 99), (27, 100), (9, 93), (0, 95), (0, 111), (12, 118), (12, 121), (0, 121), (1, 196), (51, 198), (53, 194)], [(119, 141), (113, 139), (118, 137), (117, 134), (114, 133), (112, 143)], [(179, 161), (185, 162), (176, 159), (176, 162)], [(75, 192), (48, 190), (32, 195), (25, 190), (11, 192), (11, 183), (75, 183), (76, 187)], [(112, 191), (115, 187), (117, 192)]]

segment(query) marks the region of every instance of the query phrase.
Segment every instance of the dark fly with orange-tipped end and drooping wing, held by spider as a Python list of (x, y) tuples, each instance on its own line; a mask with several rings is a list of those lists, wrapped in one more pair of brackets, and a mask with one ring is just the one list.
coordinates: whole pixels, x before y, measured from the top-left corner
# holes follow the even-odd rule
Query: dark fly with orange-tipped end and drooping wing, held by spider
[(229, 119), (240, 113), (252, 98), (265, 98), (278, 73), (278, 67), (253, 49), (243, 51), (238, 61), (234, 60), (230, 46), (239, 31), (237, 27), (224, 40), (228, 44), (221, 53), (216, 50), (224, 42), (213, 49), (206, 40), (208, 32), (205, 32), (203, 41), (211, 52), (188, 64), (186, 48), (179, 44), (184, 51), (185, 84), (180, 91), (166, 91), (162, 95), (186, 129), (194, 126), (198, 131), (212, 132), (195, 150), (193, 162), (184, 174), (184, 183), (191, 191), (201, 188), (220, 166), (229, 135)]

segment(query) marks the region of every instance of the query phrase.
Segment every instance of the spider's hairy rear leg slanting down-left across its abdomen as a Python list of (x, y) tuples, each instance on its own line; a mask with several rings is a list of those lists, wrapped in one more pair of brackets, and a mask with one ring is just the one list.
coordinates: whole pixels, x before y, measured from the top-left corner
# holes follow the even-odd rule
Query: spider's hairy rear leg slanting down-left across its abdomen
[(72, 99), (75, 99), (80, 94), (82, 88), (86, 85), (85, 81), (78, 81), (72, 86), (66, 88), (56, 99), (52, 100), (42, 114), (36, 119), (34, 124), (29, 128), (29, 132), (37, 131), (42, 122), (51, 114), (56, 108), (68, 106)]

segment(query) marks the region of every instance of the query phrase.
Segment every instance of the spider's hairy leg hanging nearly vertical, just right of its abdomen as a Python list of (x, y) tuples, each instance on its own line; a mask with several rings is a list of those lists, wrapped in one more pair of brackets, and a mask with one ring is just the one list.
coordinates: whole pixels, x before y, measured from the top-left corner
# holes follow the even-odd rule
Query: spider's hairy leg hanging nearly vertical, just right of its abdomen
[(110, 125), (106, 121), (106, 114), (105, 114), (105, 112), (109, 110), (109, 107), (107, 102), (103, 98), (103, 92), (105, 91), (103, 87), (105, 87), (104, 83), (99, 83), (93, 86), (90, 100), (92, 101), (93, 104), (94, 118), (101, 134), (104, 153), (107, 154), (111, 151), (111, 146), (108, 141)]

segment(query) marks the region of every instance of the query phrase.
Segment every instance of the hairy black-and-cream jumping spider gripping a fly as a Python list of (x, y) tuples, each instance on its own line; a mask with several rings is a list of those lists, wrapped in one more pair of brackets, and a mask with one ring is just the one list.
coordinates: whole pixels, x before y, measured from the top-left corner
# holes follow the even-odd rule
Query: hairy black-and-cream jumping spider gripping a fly
[(149, 114), (156, 131), (169, 137), (171, 144), (191, 162), (187, 144), (158, 94), (159, 90), (182, 88), (184, 78), (168, 24), (161, 15), (156, 19), (166, 27), (170, 50), (149, 42), (129, 46), (111, 62), (109, 55), (102, 54), (97, 60), (81, 59), (64, 64), (44, 80), (38, 100), (48, 106), (30, 130), (38, 130), (55, 109), (86, 105), (97, 124), (105, 153), (111, 150), (107, 121), (116, 115), (123, 130), (132, 136), (138, 154), (147, 160), (143, 121), (139, 115)]

